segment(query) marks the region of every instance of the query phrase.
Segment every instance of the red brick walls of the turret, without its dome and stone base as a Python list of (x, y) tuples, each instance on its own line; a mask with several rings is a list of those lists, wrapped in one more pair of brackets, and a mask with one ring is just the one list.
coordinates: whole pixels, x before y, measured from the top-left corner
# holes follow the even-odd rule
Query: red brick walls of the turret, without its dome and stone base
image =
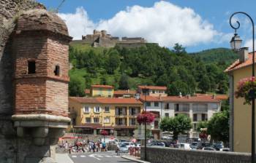
[[(21, 33), (15, 39), (15, 114), (67, 116), (69, 47), (56, 38), (48, 33)], [(27, 74), (28, 60), (35, 60), (36, 73)], [(60, 76), (54, 74), (56, 65)]]

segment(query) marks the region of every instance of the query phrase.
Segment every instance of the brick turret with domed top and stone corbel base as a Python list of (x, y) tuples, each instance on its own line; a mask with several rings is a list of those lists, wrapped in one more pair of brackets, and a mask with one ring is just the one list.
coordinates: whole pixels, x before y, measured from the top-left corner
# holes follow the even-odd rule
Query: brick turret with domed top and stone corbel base
[[(18, 17), (13, 33), (15, 115), (18, 136), (31, 130), (34, 144), (56, 141), (70, 119), (68, 49), (71, 37), (57, 15), (31, 9)], [(24, 130), (26, 128), (26, 130)]]

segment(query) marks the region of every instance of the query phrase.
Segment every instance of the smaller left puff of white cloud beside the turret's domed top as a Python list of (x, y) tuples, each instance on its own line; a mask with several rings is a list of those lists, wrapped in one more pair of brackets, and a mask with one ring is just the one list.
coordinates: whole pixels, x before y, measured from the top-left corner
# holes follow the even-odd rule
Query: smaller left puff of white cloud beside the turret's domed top
[(69, 35), (73, 39), (82, 39), (85, 33), (92, 33), (96, 28), (94, 22), (89, 19), (87, 12), (83, 7), (78, 7), (75, 14), (60, 13), (58, 14), (66, 23), (69, 29)]

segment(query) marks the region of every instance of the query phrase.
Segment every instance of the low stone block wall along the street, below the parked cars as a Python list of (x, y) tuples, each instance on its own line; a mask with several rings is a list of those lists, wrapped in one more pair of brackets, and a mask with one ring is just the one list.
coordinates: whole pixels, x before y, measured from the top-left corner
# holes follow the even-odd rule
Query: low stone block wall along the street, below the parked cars
[[(144, 158), (144, 148), (140, 157)], [(184, 150), (178, 148), (147, 148), (147, 161), (151, 163), (249, 163), (251, 156), (247, 153)]]

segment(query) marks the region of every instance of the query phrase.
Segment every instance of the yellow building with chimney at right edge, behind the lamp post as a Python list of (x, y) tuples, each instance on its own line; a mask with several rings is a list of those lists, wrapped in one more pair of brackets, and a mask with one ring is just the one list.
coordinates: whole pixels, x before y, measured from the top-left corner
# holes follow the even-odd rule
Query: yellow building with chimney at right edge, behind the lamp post
[(230, 76), (230, 149), (251, 152), (252, 106), (244, 105), (244, 98), (236, 98), (235, 92), (241, 79), (252, 76), (252, 54), (244, 49), (239, 55), (225, 70)]

